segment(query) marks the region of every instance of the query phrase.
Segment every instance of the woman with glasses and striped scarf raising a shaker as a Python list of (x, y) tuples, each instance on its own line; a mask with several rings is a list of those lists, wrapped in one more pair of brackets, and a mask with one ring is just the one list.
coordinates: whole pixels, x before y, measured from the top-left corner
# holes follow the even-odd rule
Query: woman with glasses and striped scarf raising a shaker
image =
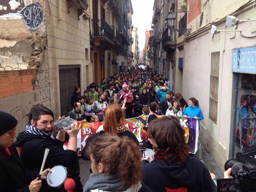
[[(51, 138), (54, 127), (54, 114), (42, 104), (35, 104), (28, 114), (28, 124), (25, 131), (19, 133), (16, 147), (20, 150), (20, 159), (25, 168), (39, 171), (45, 148), (50, 149), (45, 167), (52, 168), (62, 165), (67, 168), (67, 176), (73, 178), (76, 184), (74, 192), (82, 192), (83, 185), (80, 181), (80, 169), (76, 153), (76, 135), (79, 131), (77, 125), (72, 124), (70, 130), (58, 132), (55, 139)], [(67, 150), (63, 149), (65, 134), (69, 136)], [(62, 189), (51, 188), (46, 181), (42, 181), (40, 191), (62, 191)]]

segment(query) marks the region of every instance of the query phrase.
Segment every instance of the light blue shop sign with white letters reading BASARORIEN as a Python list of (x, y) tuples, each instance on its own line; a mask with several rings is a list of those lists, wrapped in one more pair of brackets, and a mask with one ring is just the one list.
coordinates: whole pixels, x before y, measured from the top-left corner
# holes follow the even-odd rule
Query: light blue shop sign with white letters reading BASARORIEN
[(233, 49), (232, 71), (256, 74), (256, 46)]

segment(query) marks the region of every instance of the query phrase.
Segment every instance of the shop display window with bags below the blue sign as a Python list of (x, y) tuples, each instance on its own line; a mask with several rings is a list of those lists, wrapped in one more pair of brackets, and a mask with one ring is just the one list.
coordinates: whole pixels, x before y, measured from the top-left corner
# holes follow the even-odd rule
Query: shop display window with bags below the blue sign
[(233, 158), (256, 165), (256, 74), (239, 73)]

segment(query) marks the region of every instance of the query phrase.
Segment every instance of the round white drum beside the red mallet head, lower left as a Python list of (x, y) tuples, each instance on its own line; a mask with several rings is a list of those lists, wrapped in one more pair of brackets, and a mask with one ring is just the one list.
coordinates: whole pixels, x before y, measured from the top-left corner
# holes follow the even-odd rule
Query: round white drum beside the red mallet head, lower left
[(46, 182), (49, 187), (59, 188), (67, 178), (67, 169), (61, 165), (54, 166), (52, 172), (48, 172)]

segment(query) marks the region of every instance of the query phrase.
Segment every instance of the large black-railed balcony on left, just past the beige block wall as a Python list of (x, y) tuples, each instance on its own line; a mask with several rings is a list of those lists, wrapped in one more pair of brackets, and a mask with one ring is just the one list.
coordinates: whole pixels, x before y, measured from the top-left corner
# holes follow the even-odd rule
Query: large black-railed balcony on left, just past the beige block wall
[(104, 50), (109, 50), (109, 46), (114, 47), (114, 30), (105, 20), (92, 20), (92, 39), (94, 46), (100, 46)]

